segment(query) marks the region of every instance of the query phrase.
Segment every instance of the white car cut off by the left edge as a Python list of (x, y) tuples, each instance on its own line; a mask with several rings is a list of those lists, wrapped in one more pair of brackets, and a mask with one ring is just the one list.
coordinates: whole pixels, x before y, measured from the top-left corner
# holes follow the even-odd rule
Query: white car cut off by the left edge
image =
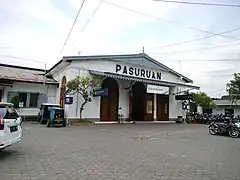
[(0, 102), (0, 150), (22, 138), (22, 118), (12, 103)]

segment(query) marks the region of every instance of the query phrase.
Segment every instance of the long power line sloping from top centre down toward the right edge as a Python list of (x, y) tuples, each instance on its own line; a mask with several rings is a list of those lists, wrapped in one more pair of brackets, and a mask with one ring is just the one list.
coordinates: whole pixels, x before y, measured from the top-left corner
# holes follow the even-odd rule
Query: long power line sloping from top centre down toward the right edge
[(195, 27), (191, 27), (191, 26), (185, 26), (185, 25), (180, 24), (180, 23), (175, 22), (175, 21), (166, 20), (166, 19), (163, 19), (163, 18), (160, 18), (160, 17), (149, 15), (149, 14), (146, 14), (146, 13), (134, 10), (134, 9), (130, 9), (130, 8), (127, 8), (127, 7), (124, 7), (124, 6), (112, 3), (112, 2), (108, 2), (108, 1), (105, 1), (105, 0), (103, 0), (103, 2), (106, 3), (106, 4), (109, 4), (111, 6), (115, 6), (115, 7), (127, 10), (127, 11), (131, 11), (133, 13), (140, 14), (142, 16), (149, 17), (149, 18), (152, 18), (152, 19), (155, 19), (155, 20), (158, 20), (158, 21), (167, 22), (167, 23), (170, 23), (170, 24), (173, 24), (173, 25), (177, 25), (177, 26), (180, 26), (180, 27), (184, 27), (184, 28), (187, 28), (187, 29), (194, 30), (194, 31), (202, 32), (202, 33), (205, 33), (205, 34), (213, 34), (213, 35), (216, 35), (216, 36), (221, 36), (221, 37), (224, 37), (224, 38), (229, 38), (229, 39), (236, 40), (236, 38), (233, 38), (233, 37), (225, 36), (225, 35), (222, 35), (222, 34), (217, 34), (217, 33), (211, 32), (211, 31), (201, 30), (201, 29), (198, 29), (198, 28), (195, 28)]

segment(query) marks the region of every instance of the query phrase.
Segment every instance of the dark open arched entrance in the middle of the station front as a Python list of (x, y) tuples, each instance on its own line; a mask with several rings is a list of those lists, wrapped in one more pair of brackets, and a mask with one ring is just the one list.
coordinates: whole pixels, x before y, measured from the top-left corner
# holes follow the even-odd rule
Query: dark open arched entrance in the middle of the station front
[(132, 86), (132, 113), (131, 119), (133, 121), (143, 121), (145, 120), (146, 114), (146, 87), (141, 82), (136, 82)]

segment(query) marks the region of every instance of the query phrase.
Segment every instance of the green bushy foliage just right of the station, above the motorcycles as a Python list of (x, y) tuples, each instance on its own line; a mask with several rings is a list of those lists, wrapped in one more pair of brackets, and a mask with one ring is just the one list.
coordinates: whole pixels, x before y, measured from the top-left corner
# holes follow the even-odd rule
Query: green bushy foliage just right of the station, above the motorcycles
[(195, 106), (201, 106), (206, 109), (215, 108), (216, 104), (213, 100), (204, 92), (192, 93), (193, 95), (193, 104)]

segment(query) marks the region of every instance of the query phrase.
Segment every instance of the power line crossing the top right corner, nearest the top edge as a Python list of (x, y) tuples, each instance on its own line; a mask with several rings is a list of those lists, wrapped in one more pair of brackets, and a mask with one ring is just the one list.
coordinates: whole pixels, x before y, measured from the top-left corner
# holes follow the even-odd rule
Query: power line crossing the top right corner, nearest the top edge
[(188, 5), (201, 5), (201, 6), (220, 6), (220, 7), (240, 7), (240, 4), (218, 4), (218, 3), (204, 3), (204, 2), (192, 2), (192, 1), (171, 1), (171, 0), (153, 0), (166, 3), (178, 3)]

